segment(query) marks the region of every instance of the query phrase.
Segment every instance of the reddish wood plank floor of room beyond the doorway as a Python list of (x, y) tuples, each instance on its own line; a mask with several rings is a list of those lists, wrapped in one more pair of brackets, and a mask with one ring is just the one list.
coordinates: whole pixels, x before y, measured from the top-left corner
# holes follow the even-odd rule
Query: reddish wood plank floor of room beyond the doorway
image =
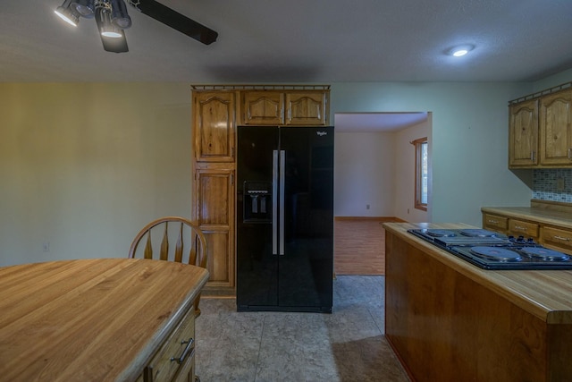
[(383, 222), (393, 217), (343, 218), (334, 221), (333, 268), (336, 275), (385, 275)]

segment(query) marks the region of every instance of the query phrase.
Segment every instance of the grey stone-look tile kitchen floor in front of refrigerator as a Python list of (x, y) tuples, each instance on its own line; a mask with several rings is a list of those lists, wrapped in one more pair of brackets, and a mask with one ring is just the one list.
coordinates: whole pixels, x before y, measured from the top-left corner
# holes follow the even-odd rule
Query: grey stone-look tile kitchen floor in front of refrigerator
[(408, 381), (383, 336), (383, 276), (338, 276), (333, 312), (237, 312), (204, 298), (197, 319), (202, 382)]

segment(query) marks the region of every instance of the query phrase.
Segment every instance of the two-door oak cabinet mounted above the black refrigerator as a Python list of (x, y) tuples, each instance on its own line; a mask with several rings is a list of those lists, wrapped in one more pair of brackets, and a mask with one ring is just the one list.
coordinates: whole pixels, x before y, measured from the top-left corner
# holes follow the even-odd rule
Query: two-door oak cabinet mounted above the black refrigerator
[(243, 91), (242, 123), (253, 125), (325, 125), (328, 90)]

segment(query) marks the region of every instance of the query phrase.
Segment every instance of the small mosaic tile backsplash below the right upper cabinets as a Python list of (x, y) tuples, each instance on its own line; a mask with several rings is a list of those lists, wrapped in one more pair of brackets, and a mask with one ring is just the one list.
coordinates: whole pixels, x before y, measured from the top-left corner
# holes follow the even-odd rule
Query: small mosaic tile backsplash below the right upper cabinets
[(534, 170), (533, 199), (572, 203), (572, 168)]

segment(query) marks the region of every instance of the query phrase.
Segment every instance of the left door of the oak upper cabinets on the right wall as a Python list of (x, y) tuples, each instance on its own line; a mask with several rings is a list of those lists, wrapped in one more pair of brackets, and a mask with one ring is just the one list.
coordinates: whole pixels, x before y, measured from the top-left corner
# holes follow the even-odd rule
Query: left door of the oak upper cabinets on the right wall
[(510, 106), (509, 167), (538, 165), (538, 100)]

